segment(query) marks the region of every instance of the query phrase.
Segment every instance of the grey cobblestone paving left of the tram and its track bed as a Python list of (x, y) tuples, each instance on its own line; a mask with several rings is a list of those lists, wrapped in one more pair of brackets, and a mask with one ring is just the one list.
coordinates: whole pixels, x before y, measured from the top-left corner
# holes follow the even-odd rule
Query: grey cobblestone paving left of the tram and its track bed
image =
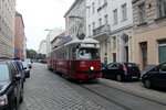
[(44, 64), (33, 64), (31, 77), (24, 82), (24, 101), (19, 110), (105, 110), (81, 96)]

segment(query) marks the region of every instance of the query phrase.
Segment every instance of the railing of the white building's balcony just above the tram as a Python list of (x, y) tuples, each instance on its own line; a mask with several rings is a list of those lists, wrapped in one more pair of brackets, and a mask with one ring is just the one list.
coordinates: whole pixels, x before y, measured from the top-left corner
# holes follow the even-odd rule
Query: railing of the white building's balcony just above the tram
[(100, 26), (100, 28), (97, 28), (97, 29), (94, 29), (93, 30), (93, 35), (94, 36), (97, 36), (97, 35), (102, 35), (102, 34), (107, 34), (107, 33), (110, 33), (110, 25), (108, 24), (104, 24), (104, 25), (102, 25), (102, 26)]

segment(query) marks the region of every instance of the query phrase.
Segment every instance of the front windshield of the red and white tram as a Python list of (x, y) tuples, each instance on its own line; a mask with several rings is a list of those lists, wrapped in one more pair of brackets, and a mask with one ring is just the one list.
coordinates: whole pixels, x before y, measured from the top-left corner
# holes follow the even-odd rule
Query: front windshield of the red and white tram
[(98, 59), (98, 48), (85, 48), (82, 47), (79, 50), (80, 59)]

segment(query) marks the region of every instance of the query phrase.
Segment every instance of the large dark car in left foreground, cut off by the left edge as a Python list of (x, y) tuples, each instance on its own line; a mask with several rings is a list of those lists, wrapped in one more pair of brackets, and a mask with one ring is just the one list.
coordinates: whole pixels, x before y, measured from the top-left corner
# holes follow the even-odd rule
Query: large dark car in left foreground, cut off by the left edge
[(13, 62), (0, 62), (0, 110), (17, 110), (23, 101), (21, 74)]

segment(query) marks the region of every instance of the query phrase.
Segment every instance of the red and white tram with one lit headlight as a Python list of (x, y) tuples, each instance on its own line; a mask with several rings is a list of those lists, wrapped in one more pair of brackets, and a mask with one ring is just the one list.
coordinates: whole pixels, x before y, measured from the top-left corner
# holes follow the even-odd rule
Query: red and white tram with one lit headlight
[(96, 79), (102, 76), (98, 52), (100, 44), (96, 40), (73, 40), (50, 53), (48, 67), (68, 78)]

